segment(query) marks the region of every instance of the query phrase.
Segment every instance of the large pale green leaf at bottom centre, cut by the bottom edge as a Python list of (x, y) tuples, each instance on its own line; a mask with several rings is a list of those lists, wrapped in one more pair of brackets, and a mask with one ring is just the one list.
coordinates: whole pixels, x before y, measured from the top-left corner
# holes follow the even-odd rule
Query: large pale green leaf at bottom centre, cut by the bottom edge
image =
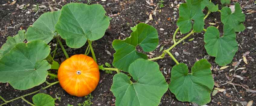
[(168, 89), (168, 84), (156, 62), (137, 59), (129, 66), (129, 73), (136, 82), (131, 82), (124, 73), (113, 78), (111, 91), (116, 97), (116, 106), (157, 106)]

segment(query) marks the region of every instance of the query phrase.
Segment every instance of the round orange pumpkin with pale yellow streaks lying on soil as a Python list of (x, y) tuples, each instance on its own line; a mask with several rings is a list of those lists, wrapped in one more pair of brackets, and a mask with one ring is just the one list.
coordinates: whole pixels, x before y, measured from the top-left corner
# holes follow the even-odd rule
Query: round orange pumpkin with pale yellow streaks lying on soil
[(70, 95), (86, 96), (99, 83), (99, 67), (92, 57), (76, 54), (60, 64), (58, 79), (61, 87)]

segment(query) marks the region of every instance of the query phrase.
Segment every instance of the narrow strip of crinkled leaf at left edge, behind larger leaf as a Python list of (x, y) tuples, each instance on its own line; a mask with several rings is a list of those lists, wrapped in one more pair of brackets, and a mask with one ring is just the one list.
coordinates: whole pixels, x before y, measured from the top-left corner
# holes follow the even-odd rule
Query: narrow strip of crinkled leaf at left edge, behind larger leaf
[(6, 43), (0, 49), (0, 59), (17, 44), (25, 40), (25, 30), (20, 30), (17, 35), (7, 37)]

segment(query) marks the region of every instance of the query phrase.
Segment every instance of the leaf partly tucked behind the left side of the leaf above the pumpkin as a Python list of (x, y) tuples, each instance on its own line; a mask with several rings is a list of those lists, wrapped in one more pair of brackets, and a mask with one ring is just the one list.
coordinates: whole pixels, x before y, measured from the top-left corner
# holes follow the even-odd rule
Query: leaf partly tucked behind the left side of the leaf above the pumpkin
[(26, 39), (29, 42), (43, 40), (49, 43), (56, 35), (54, 26), (60, 17), (60, 12), (61, 10), (42, 14), (32, 26), (28, 27)]

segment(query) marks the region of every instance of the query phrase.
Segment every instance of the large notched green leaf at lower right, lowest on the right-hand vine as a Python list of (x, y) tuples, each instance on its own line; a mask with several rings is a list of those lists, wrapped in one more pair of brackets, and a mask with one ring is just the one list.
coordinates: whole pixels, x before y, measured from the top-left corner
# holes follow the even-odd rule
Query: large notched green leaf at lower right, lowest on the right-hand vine
[(211, 91), (214, 86), (211, 64), (202, 59), (197, 61), (188, 73), (184, 63), (173, 66), (171, 71), (170, 91), (182, 102), (195, 102), (205, 105), (211, 101)]

